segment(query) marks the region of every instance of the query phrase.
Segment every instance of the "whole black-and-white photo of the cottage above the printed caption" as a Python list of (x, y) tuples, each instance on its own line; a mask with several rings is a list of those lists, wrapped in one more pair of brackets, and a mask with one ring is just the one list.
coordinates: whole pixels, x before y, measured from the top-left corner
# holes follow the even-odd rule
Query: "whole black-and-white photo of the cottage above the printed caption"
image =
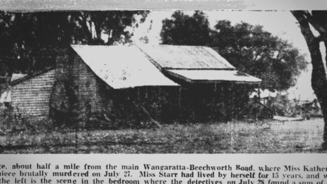
[(325, 153), (327, 11), (0, 10), (0, 152)]

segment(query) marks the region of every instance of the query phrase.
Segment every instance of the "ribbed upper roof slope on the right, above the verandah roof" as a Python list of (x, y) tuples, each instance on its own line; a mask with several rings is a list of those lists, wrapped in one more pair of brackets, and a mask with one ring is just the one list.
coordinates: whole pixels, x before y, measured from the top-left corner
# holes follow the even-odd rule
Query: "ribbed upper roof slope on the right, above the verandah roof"
[(203, 46), (138, 45), (161, 68), (167, 69), (235, 69), (216, 51)]

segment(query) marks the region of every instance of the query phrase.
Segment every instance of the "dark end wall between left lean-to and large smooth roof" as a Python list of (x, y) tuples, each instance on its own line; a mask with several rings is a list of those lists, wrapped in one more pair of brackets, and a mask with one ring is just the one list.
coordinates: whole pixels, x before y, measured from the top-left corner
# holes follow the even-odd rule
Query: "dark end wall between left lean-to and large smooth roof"
[[(56, 59), (56, 73), (51, 95), (51, 118), (55, 124), (82, 123), (84, 126), (91, 117), (103, 114), (108, 103), (103, 99), (108, 85), (91, 68), (68, 48)], [(107, 90), (106, 90), (107, 91)], [(65, 115), (60, 119), (58, 115)], [(58, 120), (57, 120), (58, 119)]]

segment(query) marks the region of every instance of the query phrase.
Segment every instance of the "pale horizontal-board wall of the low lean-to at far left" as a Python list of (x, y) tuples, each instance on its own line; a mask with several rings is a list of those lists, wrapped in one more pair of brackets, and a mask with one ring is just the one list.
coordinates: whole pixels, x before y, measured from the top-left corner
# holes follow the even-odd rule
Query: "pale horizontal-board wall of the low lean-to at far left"
[(54, 70), (12, 86), (12, 106), (15, 114), (48, 116), (49, 100), (54, 83)]

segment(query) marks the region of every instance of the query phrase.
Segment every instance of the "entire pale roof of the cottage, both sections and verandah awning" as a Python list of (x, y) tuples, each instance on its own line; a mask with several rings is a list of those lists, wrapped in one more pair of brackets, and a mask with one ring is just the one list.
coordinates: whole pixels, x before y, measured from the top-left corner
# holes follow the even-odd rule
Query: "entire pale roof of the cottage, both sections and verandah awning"
[[(71, 48), (97, 76), (115, 89), (179, 85), (170, 79), (171, 76), (188, 82), (261, 82), (259, 78), (238, 72), (209, 47), (71, 45)], [(162, 71), (168, 72), (163, 75)]]

